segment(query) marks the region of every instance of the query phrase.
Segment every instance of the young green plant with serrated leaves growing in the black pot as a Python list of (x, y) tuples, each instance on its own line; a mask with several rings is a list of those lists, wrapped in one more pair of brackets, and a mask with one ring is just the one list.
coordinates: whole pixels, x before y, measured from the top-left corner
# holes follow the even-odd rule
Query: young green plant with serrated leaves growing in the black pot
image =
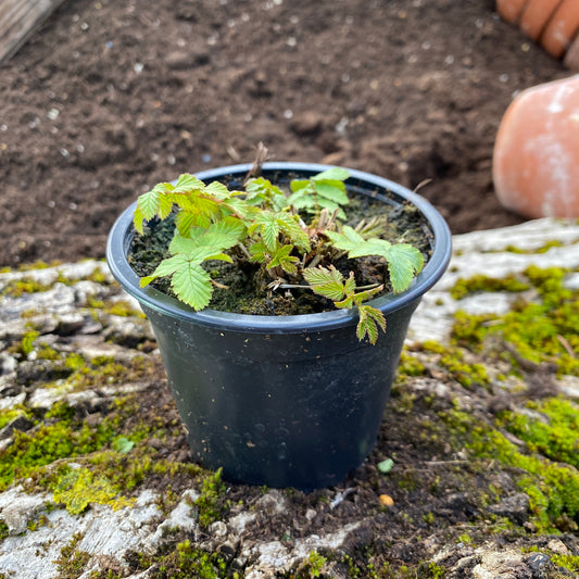
[[(382, 259), (392, 291), (404, 291), (424, 265), (421, 253), (408, 243), (390, 243), (372, 237), (379, 225), (352, 228), (341, 225), (343, 205), (349, 203), (344, 180), (349, 173), (330, 168), (310, 179), (291, 181), (286, 194), (263, 177), (248, 180), (243, 190), (229, 190), (214, 181), (205, 185), (184, 174), (175, 184), (162, 182), (139, 197), (134, 215), (135, 229), (143, 234), (144, 222), (165, 219), (175, 213), (175, 235), (169, 257), (141, 278), (141, 287), (168, 277), (176, 297), (193, 310), (211, 301), (214, 281), (204, 262), (234, 263), (249, 260), (261, 264), (272, 282), (268, 288), (311, 289), (331, 300), (336, 307), (356, 307), (360, 340), (376, 343), (386, 330), (382, 313), (365, 304), (383, 291), (383, 284), (357, 287), (354, 274), (344, 276), (332, 259), (378, 256)], [(313, 215), (305, 224), (301, 214)]]

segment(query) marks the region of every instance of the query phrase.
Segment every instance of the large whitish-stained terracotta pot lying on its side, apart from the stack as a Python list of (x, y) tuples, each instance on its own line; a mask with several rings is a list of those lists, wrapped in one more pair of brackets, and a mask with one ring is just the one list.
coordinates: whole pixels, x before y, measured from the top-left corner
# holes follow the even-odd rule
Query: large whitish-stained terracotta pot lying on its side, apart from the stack
[(527, 217), (579, 217), (579, 75), (523, 91), (494, 144), (493, 179)]

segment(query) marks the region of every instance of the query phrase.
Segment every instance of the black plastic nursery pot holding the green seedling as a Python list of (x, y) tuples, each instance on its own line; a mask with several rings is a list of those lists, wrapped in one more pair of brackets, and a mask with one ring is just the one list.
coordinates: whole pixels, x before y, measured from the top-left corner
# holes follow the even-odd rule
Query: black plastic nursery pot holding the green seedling
[[(249, 168), (197, 176), (239, 186)], [(267, 163), (263, 176), (280, 182), (326, 168)], [(152, 287), (141, 289), (126, 259), (135, 205), (109, 236), (109, 266), (152, 324), (194, 456), (223, 467), (228, 480), (307, 490), (336, 484), (360, 466), (376, 442), (411, 316), (448, 266), (450, 231), (426, 200), (387, 179), (350, 173), (350, 191), (414, 203), (433, 236), (432, 255), (411, 288), (369, 302), (387, 319), (376, 345), (357, 340), (355, 310), (286, 317), (194, 312)]]

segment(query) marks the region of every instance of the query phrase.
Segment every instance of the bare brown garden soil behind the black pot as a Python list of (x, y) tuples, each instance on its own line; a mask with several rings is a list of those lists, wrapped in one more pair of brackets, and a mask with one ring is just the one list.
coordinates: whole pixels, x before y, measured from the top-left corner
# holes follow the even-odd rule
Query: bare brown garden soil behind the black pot
[(453, 232), (517, 223), (493, 193), (499, 123), (568, 74), (493, 0), (67, 0), (0, 67), (0, 265), (101, 257), (138, 193), (259, 141), (430, 179)]

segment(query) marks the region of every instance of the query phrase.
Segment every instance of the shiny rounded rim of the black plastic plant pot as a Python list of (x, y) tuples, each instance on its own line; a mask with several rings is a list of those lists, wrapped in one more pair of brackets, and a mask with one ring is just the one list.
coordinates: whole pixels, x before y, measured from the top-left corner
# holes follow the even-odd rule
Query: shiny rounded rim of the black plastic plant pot
[[(335, 165), (317, 163), (274, 162), (264, 163), (265, 172), (303, 172), (317, 174)], [(202, 171), (194, 175), (203, 180), (211, 181), (226, 175), (239, 175), (243, 177), (252, 167), (251, 163), (228, 165), (214, 169)], [(345, 167), (344, 167), (345, 168)], [(405, 307), (418, 301), (442, 277), (449, 265), (452, 254), (452, 237), (446, 222), (440, 213), (423, 197), (411, 191), (406, 187), (357, 169), (350, 169), (347, 184), (358, 180), (366, 185), (379, 187), (391, 191), (403, 200), (410, 201), (420, 211), (430, 225), (433, 235), (432, 255), (423, 270), (413, 280), (411, 287), (402, 293), (387, 294), (367, 303), (377, 307), (382, 314)], [(297, 333), (312, 332), (355, 326), (357, 324), (356, 309), (335, 310), (318, 314), (302, 314), (291, 316), (262, 316), (250, 314), (236, 314), (205, 309), (196, 312), (188, 305), (175, 298), (166, 295), (155, 288), (139, 286), (139, 277), (130, 267), (126, 255), (133, 237), (133, 213), (137, 202), (130, 204), (116, 219), (106, 241), (106, 262), (109, 268), (121, 287), (141, 305), (155, 310), (171, 317), (189, 320), (202, 326), (211, 326), (216, 329), (229, 329), (243, 332), (259, 333)]]

